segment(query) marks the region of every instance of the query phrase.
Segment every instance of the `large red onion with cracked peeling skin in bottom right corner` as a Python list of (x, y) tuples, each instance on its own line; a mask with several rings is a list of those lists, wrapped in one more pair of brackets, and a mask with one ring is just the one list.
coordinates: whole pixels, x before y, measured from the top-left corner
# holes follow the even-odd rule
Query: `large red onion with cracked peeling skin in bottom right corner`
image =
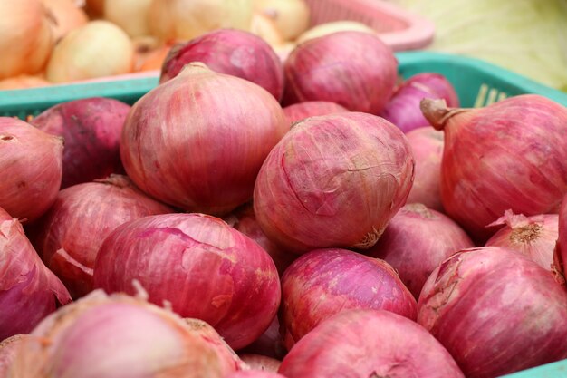
[(465, 249), (428, 277), (418, 323), (467, 378), (567, 358), (567, 292), (549, 271), (504, 247)]

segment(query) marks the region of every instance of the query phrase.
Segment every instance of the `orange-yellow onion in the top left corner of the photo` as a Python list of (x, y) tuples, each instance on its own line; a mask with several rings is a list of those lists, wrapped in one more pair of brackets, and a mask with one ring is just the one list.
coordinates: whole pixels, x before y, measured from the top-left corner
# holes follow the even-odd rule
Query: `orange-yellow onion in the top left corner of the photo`
[(52, 27), (40, 0), (0, 1), (0, 79), (42, 71), (53, 49)]

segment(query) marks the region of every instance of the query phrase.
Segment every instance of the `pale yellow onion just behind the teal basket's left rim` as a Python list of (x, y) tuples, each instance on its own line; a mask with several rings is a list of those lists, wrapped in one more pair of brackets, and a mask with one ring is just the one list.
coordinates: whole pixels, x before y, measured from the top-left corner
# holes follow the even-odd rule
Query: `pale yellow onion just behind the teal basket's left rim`
[(134, 48), (128, 34), (108, 21), (91, 21), (65, 35), (47, 64), (50, 82), (130, 73)]

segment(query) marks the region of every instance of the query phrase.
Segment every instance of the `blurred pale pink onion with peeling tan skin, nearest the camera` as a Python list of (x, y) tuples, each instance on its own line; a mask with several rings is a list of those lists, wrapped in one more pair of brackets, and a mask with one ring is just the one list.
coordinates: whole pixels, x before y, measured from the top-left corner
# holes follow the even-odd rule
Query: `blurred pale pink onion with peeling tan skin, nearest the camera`
[(222, 378), (238, 369), (178, 315), (102, 291), (62, 307), (32, 336), (8, 376)]

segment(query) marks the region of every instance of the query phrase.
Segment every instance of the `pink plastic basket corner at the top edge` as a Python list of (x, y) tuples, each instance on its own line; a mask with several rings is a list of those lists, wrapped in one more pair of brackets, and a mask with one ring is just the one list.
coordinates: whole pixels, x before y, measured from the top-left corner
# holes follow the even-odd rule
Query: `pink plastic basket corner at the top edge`
[(415, 50), (433, 41), (435, 25), (382, 0), (306, 0), (311, 25), (350, 20), (367, 24), (394, 51)]

